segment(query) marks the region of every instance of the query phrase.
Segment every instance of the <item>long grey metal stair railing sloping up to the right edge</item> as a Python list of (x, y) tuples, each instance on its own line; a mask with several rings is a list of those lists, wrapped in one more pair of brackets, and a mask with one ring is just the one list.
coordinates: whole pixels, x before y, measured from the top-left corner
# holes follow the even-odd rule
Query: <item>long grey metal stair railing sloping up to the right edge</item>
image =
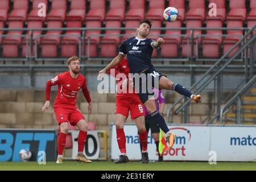
[[(245, 36), (243, 36), (242, 39), (240, 39), (236, 44), (234, 44), (234, 46), (232, 48), (229, 49), (228, 52), (225, 53), (225, 55), (223, 55), (221, 57), (221, 59), (219, 59), (207, 72), (204, 73), (204, 75), (201, 77), (201, 79), (199, 79), (195, 84), (193, 84), (191, 86), (191, 90), (196, 89), (196, 86), (199, 86), (199, 84), (201, 84), (199, 86), (199, 88), (197, 88), (195, 94), (200, 93), (206, 86), (209, 85), (209, 83), (214, 79), (217, 78), (217, 109), (216, 112), (220, 113), (220, 106), (221, 106), (221, 98), (220, 98), (220, 90), (221, 90), (221, 75), (220, 73), (222, 73), (224, 71), (225, 68), (228, 67), (228, 65), (234, 60), (234, 58), (241, 53), (242, 51), (244, 51), (245, 48), (247, 48), (250, 45), (250, 67), (248, 67), (248, 65), (245, 65), (245, 75), (248, 75), (248, 71), (247, 69), (249, 69), (249, 77), (251, 78), (254, 74), (254, 67), (255, 67), (255, 58), (253, 55), (253, 46), (256, 47), (255, 42), (255, 38), (256, 35), (253, 35), (253, 31), (255, 30), (256, 26), (254, 26), (253, 28), (251, 28), (250, 31), (247, 31)], [(225, 58), (229, 55), (230, 52), (232, 52), (234, 50), (234, 48), (236, 48), (239, 44), (243, 43), (243, 46), (240, 47), (240, 49), (238, 49), (238, 51), (236, 53), (234, 53), (234, 55), (232, 57), (230, 57), (228, 60), (225, 60)], [(246, 51), (247, 52), (247, 51)], [(255, 56), (256, 57), (256, 56)], [(221, 64), (224, 65), (221, 65)], [(210, 73), (213, 72), (213, 75), (210, 75)], [(175, 106), (177, 104), (180, 103), (181, 100), (184, 99), (184, 103), (181, 104), (177, 109), (174, 110)], [(170, 107), (170, 109), (168, 109), (167, 111), (167, 121), (170, 122), (169, 118), (171, 115), (171, 111), (174, 110), (174, 114), (178, 114), (181, 110), (184, 109), (184, 123), (188, 123), (188, 104), (191, 101), (191, 99), (187, 99), (187, 97), (182, 96), (180, 97), (178, 100), (176, 100), (174, 102), (174, 104)], [(173, 121), (173, 114), (171, 115), (171, 122)]]

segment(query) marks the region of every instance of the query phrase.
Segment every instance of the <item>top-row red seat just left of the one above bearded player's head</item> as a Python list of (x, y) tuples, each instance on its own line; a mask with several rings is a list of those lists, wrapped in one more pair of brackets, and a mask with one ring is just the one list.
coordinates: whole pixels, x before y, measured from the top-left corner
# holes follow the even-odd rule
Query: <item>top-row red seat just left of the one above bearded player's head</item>
[(67, 10), (67, 0), (52, 0), (52, 9), (47, 15), (47, 20), (64, 21)]

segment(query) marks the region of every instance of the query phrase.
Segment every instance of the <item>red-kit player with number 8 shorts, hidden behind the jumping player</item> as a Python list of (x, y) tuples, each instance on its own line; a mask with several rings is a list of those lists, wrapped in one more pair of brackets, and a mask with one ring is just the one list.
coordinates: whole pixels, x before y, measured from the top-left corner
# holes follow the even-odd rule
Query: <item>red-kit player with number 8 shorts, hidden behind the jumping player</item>
[[(110, 75), (117, 78), (117, 84), (120, 85), (119, 90), (117, 90), (117, 100), (116, 100), (116, 109), (115, 109), (115, 128), (117, 131), (117, 143), (121, 155), (119, 159), (115, 161), (115, 163), (127, 163), (129, 161), (126, 155), (126, 137), (125, 132), (123, 131), (123, 125), (129, 115), (129, 111), (131, 114), (131, 119), (136, 123), (138, 131), (139, 131), (139, 139), (142, 143), (142, 163), (148, 163), (148, 153), (147, 153), (147, 131), (145, 127), (145, 119), (144, 119), (144, 110), (143, 104), (138, 96), (135, 93), (135, 89), (131, 88), (131, 93), (129, 93), (129, 73), (130, 68), (127, 62), (126, 57), (123, 57), (122, 61), (114, 67), (114, 70), (108, 70)], [(119, 73), (123, 73), (125, 77), (122, 75), (118, 75)], [(122, 79), (121, 79), (121, 77)], [(120, 79), (118, 79), (120, 78)], [(122, 87), (125, 88), (123, 89)]]

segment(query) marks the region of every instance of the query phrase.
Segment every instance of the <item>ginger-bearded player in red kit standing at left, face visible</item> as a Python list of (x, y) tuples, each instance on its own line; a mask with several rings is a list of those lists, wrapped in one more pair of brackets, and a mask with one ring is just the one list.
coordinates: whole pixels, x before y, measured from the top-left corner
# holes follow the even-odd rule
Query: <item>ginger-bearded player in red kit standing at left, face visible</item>
[(69, 71), (60, 73), (49, 80), (46, 84), (46, 103), (42, 107), (42, 112), (48, 109), (50, 105), (51, 86), (58, 85), (57, 96), (54, 102), (54, 112), (60, 125), (60, 135), (58, 138), (58, 156), (56, 163), (63, 162), (63, 150), (68, 133), (68, 122), (72, 126), (79, 127), (78, 154), (77, 160), (91, 163), (86, 159), (83, 151), (87, 137), (87, 123), (81, 111), (76, 107), (76, 96), (80, 89), (88, 102), (88, 111), (92, 112), (92, 101), (86, 86), (86, 78), (80, 74), (80, 59), (72, 56), (67, 61)]

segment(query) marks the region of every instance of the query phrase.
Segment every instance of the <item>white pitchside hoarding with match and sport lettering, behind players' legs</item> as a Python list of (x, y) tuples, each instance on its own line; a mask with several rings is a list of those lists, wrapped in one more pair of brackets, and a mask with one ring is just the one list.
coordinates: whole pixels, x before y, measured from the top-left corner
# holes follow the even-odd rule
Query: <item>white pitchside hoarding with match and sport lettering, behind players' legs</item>
[[(164, 160), (208, 161), (215, 151), (217, 161), (256, 161), (256, 127), (169, 126), (177, 134), (175, 145), (164, 152)], [(126, 150), (130, 160), (140, 160), (138, 130), (126, 125)], [(112, 127), (111, 158), (118, 159), (115, 126)], [(158, 160), (156, 146), (148, 133), (148, 157)]]

